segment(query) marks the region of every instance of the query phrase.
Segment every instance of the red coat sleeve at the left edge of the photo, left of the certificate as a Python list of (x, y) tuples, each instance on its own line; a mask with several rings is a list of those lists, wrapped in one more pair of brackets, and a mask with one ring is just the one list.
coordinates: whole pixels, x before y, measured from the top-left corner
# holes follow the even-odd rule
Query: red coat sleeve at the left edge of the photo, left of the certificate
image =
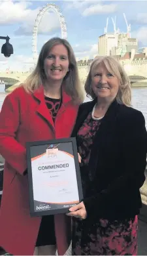
[(16, 140), (20, 123), (20, 108), (17, 96), (7, 95), (0, 112), (0, 154), (20, 175), (27, 168), (26, 150)]

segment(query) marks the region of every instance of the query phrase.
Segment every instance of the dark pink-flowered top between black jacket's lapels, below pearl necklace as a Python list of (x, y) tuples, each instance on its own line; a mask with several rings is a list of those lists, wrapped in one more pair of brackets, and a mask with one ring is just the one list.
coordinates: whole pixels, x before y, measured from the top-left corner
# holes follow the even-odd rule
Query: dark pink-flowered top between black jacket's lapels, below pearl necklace
[(78, 153), (80, 154), (82, 165), (88, 165), (90, 160), (91, 147), (93, 144), (93, 139), (95, 133), (99, 129), (101, 120), (93, 120), (91, 117), (91, 112), (85, 119), (84, 123), (80, 127), (77, 135)]

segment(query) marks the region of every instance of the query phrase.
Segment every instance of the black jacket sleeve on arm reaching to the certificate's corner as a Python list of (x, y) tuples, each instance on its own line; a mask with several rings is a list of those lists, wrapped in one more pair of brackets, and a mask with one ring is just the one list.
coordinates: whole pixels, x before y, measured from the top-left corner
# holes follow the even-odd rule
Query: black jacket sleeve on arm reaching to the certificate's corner
[(129, 127), (125, 120), (125, 126), (122, 127), (124, 137), (120, 145), (123, 154), (120, 165), (123, 164), (124, 174), (96, 196), (84, 199), (88, 215), (95, 214), (95, 211), (97, 216), (103, 215), (106, 211), (110, 211), (110, 207), (114, 209), (120, 207), (119, 211), (125, 211), (126, 202), (127, 205), (131, 203), (134, 195), (139, 193), (139, 188), (144, 183), (147, 152), (144, 116), (141, 112), (135, 112), (133, 119), (128, 123)]

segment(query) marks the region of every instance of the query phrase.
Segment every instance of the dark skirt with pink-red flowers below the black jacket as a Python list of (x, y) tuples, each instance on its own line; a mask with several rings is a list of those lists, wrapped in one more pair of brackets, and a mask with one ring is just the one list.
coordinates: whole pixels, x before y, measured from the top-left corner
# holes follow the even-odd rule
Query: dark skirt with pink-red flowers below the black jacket
[(72, 255), (137, 255), (138, 219), (97, 223), (73, 219)]

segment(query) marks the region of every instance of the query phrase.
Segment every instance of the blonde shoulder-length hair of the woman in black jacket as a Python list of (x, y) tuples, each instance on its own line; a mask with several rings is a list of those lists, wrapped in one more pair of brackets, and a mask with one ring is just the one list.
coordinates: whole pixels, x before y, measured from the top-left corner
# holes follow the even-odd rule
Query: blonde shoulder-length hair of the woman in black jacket
[(85, 91), (88, 96), (91, 98), (96, 98), (95, 93), (91, 88), (91, 73), (99, 64), (104, 64), (108, 72), (110, 74), (116, 76), (118, 81), (120, 81), (120, 87), (118, 89), (118, 95), (116, 96), (116, 100), (120, 104), (125, 104), (125, 106), (131, 106), (131, 84), (129, 81), (129, 77), (127, 76), (123, 66), (116, 60), (116, 58), (112, 56), (99, 56), (96, 57), (90, 66), (90, 72), (86, 79), (85, 83)]

